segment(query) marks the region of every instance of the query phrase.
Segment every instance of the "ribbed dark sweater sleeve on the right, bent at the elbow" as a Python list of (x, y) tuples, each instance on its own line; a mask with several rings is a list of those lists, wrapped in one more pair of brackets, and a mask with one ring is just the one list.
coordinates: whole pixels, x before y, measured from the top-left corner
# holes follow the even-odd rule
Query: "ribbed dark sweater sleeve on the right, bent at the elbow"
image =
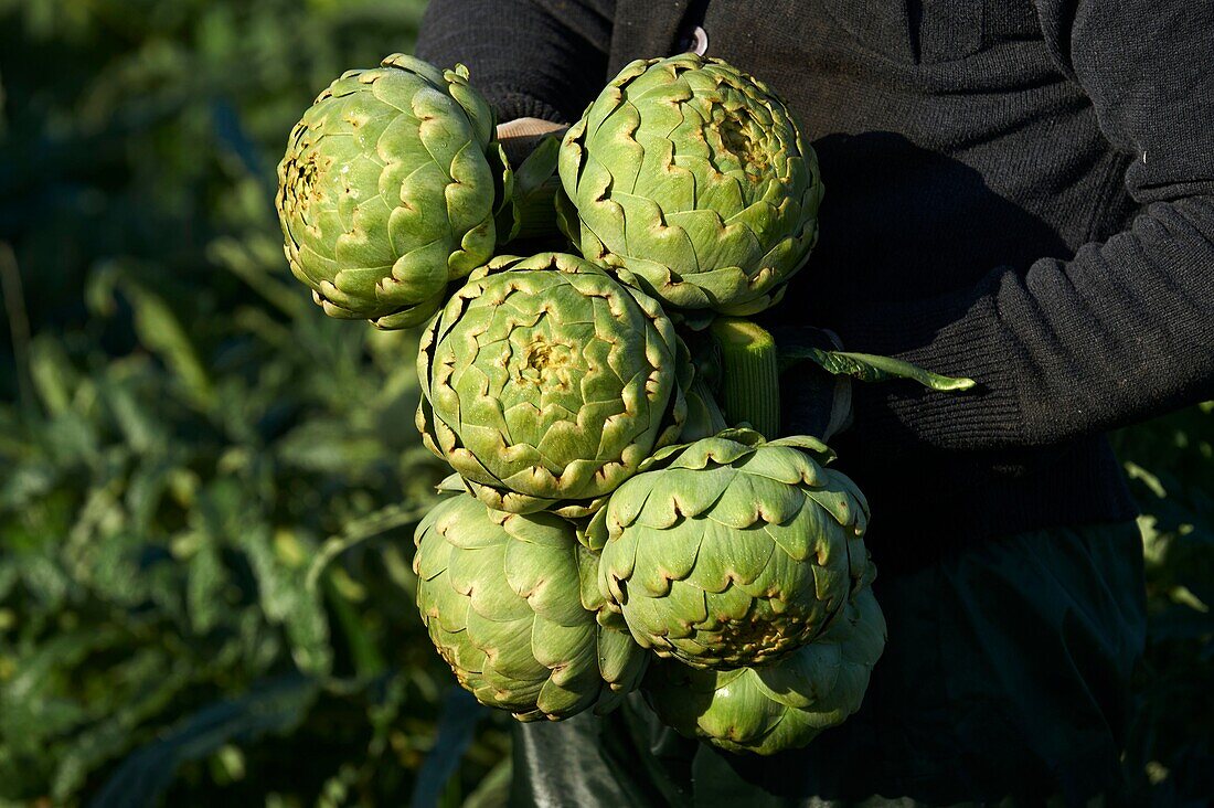
[(977, 379), (972, 395), (866, 386), (864, 440), (941, 450), (1076, 440), (1214, 397), (1214, 4), (1042, 0), (1054, 57), (1131, 157), (1141, 205), (1068, 261), (849, 313), (849, 350)]

